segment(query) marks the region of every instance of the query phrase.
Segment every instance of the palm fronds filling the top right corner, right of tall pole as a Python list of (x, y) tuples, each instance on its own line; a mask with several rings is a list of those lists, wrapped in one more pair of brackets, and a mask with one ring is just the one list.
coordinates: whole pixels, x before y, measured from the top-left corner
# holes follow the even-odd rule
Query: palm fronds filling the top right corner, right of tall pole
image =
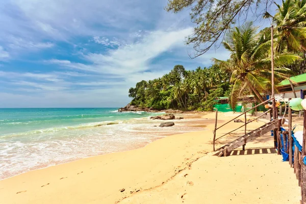
[(289, 50), (306, 51), (306, 0), (286, 0), (277, 6), (277, 13), (265, 17), (272, 18), (276, 25), (276, 46), (278, 53)]

